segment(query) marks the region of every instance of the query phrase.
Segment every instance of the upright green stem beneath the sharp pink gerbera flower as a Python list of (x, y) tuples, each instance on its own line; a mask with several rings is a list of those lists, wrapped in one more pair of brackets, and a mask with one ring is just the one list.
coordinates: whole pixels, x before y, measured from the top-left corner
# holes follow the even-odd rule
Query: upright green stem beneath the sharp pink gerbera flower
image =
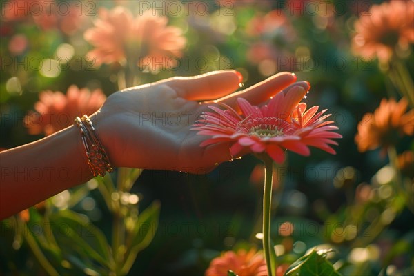
[(272, 185), (273, 185), (273, 160), (264, 158), (264, 193), (263, 193), (263, 252), (264, 259), (268, 270), (268, 276), (273, 275), (272, 259), (270, 250), (272, 244), (270, 242), (270, 210), (272, 206)]

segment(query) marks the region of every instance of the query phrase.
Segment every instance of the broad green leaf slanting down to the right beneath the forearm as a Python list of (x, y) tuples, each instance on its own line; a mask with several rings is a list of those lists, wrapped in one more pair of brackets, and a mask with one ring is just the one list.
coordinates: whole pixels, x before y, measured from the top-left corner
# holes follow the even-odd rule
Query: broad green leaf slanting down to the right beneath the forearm
[(62, 210), (50, 215), (50, 224), (59, 247), (65, 248), (63, 255), (79, 256), (84, 262), (93, 259), (106, 268), (115, 266), (105, 236), (86, 217)]

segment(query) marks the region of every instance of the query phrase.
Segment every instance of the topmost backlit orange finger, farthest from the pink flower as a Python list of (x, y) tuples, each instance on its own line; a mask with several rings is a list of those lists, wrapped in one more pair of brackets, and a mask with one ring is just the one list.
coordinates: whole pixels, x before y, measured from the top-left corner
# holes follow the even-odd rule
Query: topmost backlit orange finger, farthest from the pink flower
[(195, 77), (174, 77), (166, 81), (177, 95), (190, 101), (218, 99), (234, 92), (242, 82), (235, 70), (208, 72)]

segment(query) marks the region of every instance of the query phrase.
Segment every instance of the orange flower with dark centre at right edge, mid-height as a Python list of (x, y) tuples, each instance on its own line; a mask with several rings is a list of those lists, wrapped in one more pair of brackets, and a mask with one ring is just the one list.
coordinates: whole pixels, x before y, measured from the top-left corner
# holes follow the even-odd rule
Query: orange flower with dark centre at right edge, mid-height
[(406, 112), (408, 103), (402, 98), (397, 103), (394, 99), (382, 99), (380, 107), (374, 113), (367, 113), (358, 124), (355, 136), (358, 150), (374, 150), (395, 145), (402, 135), (414, 133), (414, 110)]

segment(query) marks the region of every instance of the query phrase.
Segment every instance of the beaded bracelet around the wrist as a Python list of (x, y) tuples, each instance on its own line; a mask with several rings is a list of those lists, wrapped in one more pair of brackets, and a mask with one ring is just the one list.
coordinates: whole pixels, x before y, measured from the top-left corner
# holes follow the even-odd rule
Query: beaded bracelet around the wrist
[(95, 128), (89, 117), (87, 115), (83, 115), (81, 118), (76, 117), (75, 123), (81, 130), (83, 147), (85, 148), (89, 169), (93, 176), (100, 175), (103, 177), (106, 172), (112, 172), (113, 169), (108, 155), (106, 155), (105, 149), (95, 135)]

